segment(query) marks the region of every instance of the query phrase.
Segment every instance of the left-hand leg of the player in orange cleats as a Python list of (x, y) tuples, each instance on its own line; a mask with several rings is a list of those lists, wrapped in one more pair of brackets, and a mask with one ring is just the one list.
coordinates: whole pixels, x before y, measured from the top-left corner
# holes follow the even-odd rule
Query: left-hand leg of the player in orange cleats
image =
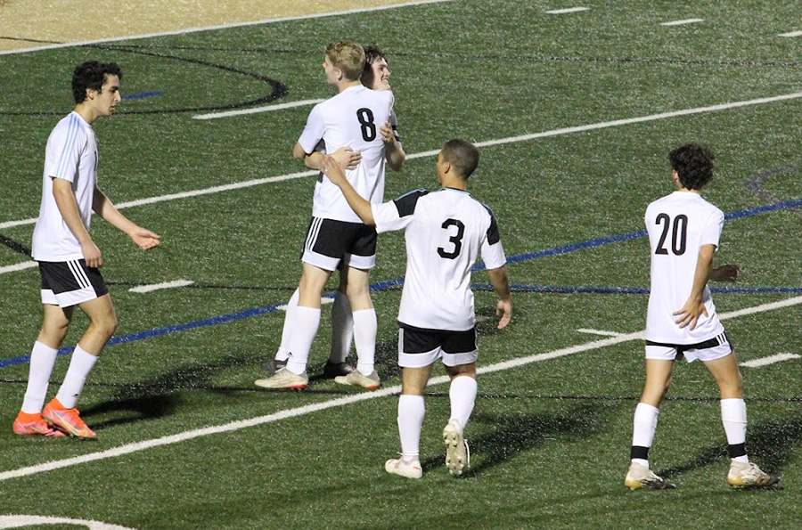
[(42, 408), (58, 349), (67, 336), (73, 307), (43, 304), (42, 308), (42, 328), (30, 352), (28, 387), (20, 413), (14, 420), (13, 431), (19, 435), (64, 436), (42, 419)]

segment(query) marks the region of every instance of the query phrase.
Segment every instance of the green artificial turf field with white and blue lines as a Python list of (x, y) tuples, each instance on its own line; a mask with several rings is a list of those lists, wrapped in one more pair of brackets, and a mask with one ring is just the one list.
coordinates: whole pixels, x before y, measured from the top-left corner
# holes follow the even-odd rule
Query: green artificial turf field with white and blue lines
[[(577, 5), (590, 10), (547, 13)], [(703, 21), (660, 25), (687, 19)], [(32, 222), (16, 222), (37, 216), (45, 140), (72, 107), (72, 69), (97, 58), (118, 61), (123, 94), (136, 96), (95, 126), (101, 186), (123, 205), (160, 198), (123, 211), (162, 235), (144, 253), (93, 224), (120, 322), (78, 405), (95, 443), (12, 434), (40, 324), (39, 276), (7, 270), (28, 258), (0, 246), (0, 516), (139, 530), (797, 528), (798, 359), (742, 368), (749, 454), (782, 475), (781, 487), (726, 485), (717, 389), (700, 363), (677, 363), (651, 451), (678, 487), (630, 493), (623, 481), (643, 378), (642, 340), (626, 334), (645, 325), (638, 293), (649, 285), (648, 245), (627, 234), (672, 191), (676, 145), (716, 151), (706, 197), (731, 215), (716, 263), (741, 265), (743, 276), (714, 298), (739, 360), (802, 354), (802, 37), (780, 37), (799, 26), (791, 0), (462, 0), (0, 55), (0, 234), (29, 245)], [(520, 289), (503, 331), (495, 296), (477, 293), (479, 364), (493, 371), (479, 376), (466, 477), (444, 466), (443, 383), (426, 400), (423, 479), (383, 469), (399, 447), (400, 289), (381, 282), (403, 277), (403, 236), (381, 236), (372, 273), (384, 389), (320, 379), (324, 309), (307, 391), (262, 391), (252, 383), (278, 346), (276, 307), (297, 285), (314, 180), (170, 197), (304, 171), (291, 150), (311, 106), (192, 116), (249, 108), (276, 87), (286, 94), (275, 103), (329, 97), (323, 46), (344, 37), (389, 55), (409, 158), (388, 175), (386, 197), (436, 186), (426, 153), (446, 140), (479, 143), (471, 192), (494, 208)], [(692, 111), (666, 114), (680, 110)], [(194, 284), (128, 291), (182, 279)], [(85, 326), (77, 314), (65, 345)], [(541, 355), (552, 352), (564, 355)], [(51, 393), (67, 364), (57, 361)]]

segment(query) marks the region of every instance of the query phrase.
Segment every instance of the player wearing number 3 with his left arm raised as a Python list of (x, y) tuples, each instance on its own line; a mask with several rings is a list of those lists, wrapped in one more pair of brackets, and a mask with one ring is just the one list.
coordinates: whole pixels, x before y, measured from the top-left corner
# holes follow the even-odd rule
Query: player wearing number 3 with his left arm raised
[(481, 255), (499, 297), (496, 314), (503, 329), (512, 316), (506, 258), (490, 208), (467, 192), (468, 177), (479, 165), (479, 151), (451, 140), (438, 154), (437, 192), (409, 192), (384, 204), (360, 197), (340, 167), (323, 161), (323, 173), (342, 189), (351, 208), (378, 232), (405, 231), (406, 274), (398, 310), (398, 433), (401, 458), (385, 463), (388, 473), (421, 478), (419, 458), (425, 412), (423, 389), (433, 364), (441, 359), (451, 376), (451, 418), (443, 429), (446, 466), (461, 475), (468, 466), (468, 444), (462, 436), (476, 401), (476, 316), (471, 267)]

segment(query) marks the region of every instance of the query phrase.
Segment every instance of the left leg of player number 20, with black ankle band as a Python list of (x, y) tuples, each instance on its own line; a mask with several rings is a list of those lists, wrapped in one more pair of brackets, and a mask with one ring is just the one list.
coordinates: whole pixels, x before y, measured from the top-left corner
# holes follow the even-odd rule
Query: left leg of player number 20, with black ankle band
[(659, 407), (671, 385), (671, 370), (676, 349), (646, 347), (646, 381), (641, 399), (635, 407), (633, 419), (630, 466), (624, 484), (631, 490), (638, 488), (666, 489), (673, 484), (655, 475), (649, 467), (649, 450), (657, 430)]

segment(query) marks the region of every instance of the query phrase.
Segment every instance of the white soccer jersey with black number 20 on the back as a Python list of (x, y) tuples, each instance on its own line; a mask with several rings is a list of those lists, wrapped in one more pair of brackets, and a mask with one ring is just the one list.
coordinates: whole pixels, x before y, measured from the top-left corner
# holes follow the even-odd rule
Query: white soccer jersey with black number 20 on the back
[(675, 311), (691, 296), (699, 251), (716, 245), (724, 225), (724, 213), (699, 193), (674, 192), (646, 208), (646, 231), (651, 244), (651, 292), (646, 316), (646, 339), (667, 344), (698, 344), (724, 331), (716, 306), (705, 287), (708, 311), (696, 327), (680, 328)]

